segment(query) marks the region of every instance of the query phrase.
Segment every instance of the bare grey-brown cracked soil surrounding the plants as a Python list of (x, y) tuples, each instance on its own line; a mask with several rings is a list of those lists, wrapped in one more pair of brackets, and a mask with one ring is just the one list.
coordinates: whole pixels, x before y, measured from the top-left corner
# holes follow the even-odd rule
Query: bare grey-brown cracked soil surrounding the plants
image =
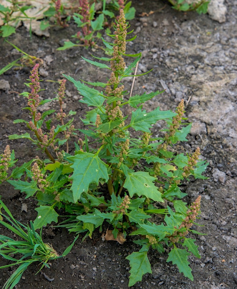
[[(177, 149), (185, 153), (201, 148), (202, 157), (210, 163), (206, 175), (208, 180), (190, 180), (182, 186), (188, 196), (185, 201), (193, 202), (201, 195), (201, 218), (203, 227), (193, 226), (205, 236), (196, 236), (201, 259), (190, 256), (190, 267), (194, 281), (190, 281), (178, 272), (176, 266), (166, 263), (167, 250), (159, 255), (152, 250), (149, 259), (152, 274), (146, 274), (142, 282), (132, 288), (164, 289), (220, 289), (237, 288), (237, 229), (236, 229), (236, 95), (237, 95), (237, 5), (236, 1), (227, 1), (227, 21), (219, 24), (208, 15), (195, 12), (182, 13), (172, 9), (165, 1), (133, 1), (137, 10), (136, 18), (130, 21), (137, 39), (128, 43), (127, 52), (142, 51), (138, 72), (154, 68), (149, 74), (136, 79), (133, 95), (166, 88), (166, 92), (150, 100), (145, 108), (154, 106), (161, 110), (175, 109), (184, 98), (186, 116), (193, 122), (188, 142), (178, 144)], [(165, 5), (165, 6), (164, 6)], [(154, 13), (149, 17), (140, 16), (142, 12)], [(107, 72), (98, 71), (81, 59), (81, 55), (91, 59), (90, 54), (103, 56), (101, 50), (91, 51), (85, 48), (73, 48), (66, 51), (56, 49), (77, 31), (76, 25), (68, 28), (52, 28), (50, 37), (32, 35), (25, 27), (9, 37), (9, 41), (30, 55), (44, 60), (41, 71), (41, 92), (43, 98), (53, 98), (57, 85), (47, 80), (62, 78), (62, 73), (75, 79), (87, 81), (105, 81)], [(1, 68), (19, 58), (19, 53), (6, 42), (0, 43)], [(13, 124), (14, 119), (28, 119), (25, 99), (19, 94), (26, 91), (24, 85), (29, 77), (29, 68), (10, 69), (0, 76), (9, 83), (9, 87), (0, 90), (0, 149), (7, 144), (15, 150), (19, 163), (26, 162), (39, 151), (27, 140), (8, 140), (14, 133), (26, 132), (24, 125)], [(47, 76), (48, 74), (48, 76)], [(125, 80), (125, 87), (131, 89), (132, 79)], [(78, 102), (79, 95), (71, 83), (67, 82), (66, 110), (76, 110), (75, 126), (81, 127), (79, 117), (87, 108)], [(125, 111), (129, 114), (131, 111)], [(161, 123), (154, 125), (153, 135), (158, 135)], [(71, 146), (73, 151), (73, 145)], [(24, 194), (14, 190), (9, 184), (1, 185), (1, 199), (12, 211), (15, 218), (23, 223), (34, 220), (36, 201), (25, 199)], [(27, 213), (22, 205), (27, 205)], [(106, 228), (104, 228), (106, 230)], [(104, 232), (103, 232), (104, 233)], [(9, 234), (0, 227), (0, 234)], [(44, 241), (62, 253), (73, 241), (73, 235), (64, 229), (47, 227), (43, 233)], [(83, 236), (82, 236), (83, 237)], [(81, 237), (81, 238), (82, 238)], [(49, 282), (43, 274), (37, 274), (37, 266), (29, 267), (15, 288), (22, 289), (124, 289), (128, 288), (129, 262), (125, 257), (139, 250), (130, 237), (124, 245), (117, 242), (105, 242), (96, 231), (93, 239), (78, 240), (65, 258), (52, 262), (50, 269), (43, 272), (54, 281)], [(0, 266), (5, 260), (0, 259)], [(1, 270), (0, 286), (12, 274), (14, 267)]]

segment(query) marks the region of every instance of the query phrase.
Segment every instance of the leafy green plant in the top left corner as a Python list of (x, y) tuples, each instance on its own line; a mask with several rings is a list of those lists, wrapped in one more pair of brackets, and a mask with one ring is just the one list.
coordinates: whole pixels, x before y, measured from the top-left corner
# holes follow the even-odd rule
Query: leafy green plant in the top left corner
[(8, 37), (16, 32), (17, 24), (23, 19), (33, 19), (28, 17), (26, 10), (32, 6), (24, 5), (25, 1), (7, 0), (9, 6), (0, 4), (0, 14), (2, 15), (3, 24), (0, 26), (0, 36)]

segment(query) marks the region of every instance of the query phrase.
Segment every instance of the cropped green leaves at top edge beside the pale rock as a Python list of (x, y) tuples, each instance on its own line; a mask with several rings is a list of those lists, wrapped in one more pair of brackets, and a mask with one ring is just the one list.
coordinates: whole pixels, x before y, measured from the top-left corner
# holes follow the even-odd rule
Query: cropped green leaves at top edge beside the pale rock
[(173, 5), (173, 8), (179, 11), (193, 11), (195, 10), (198, 14), (206, 14), (208, 4), (210, 1), (198, 0), (198, 1), (188, 1), (188, 0), (169, 0)]

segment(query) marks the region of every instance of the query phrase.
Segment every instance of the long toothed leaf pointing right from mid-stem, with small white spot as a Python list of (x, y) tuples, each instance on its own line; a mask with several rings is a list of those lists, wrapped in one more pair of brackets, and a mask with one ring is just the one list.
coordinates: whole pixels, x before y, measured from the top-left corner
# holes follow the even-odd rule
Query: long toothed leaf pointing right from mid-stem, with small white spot
[(167, 119), (175, 116), (176, 114), (167, 111), (160, 111), (159, 106), (150, 112), (142, 111), (141, 106), (136, 111), (132, 111), (132, 118), (130, 124), (126, 127), (132, 127), (134, 130), (150, 132), (151, 124), (155, 124), (160, 119)]

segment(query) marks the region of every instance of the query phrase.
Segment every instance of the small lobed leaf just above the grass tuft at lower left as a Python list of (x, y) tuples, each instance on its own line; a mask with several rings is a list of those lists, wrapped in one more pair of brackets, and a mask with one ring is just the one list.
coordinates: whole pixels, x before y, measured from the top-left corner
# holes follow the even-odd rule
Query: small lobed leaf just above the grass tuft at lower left
[(53, 206), (39, 206), (39, 208), (35, 208), (38, 212), (38, 216), (34, 221), (34, 228), (39, 229), (42, 226), (47, 226), (52, 222), (57, 223), (57, 217), (59, 216)]

